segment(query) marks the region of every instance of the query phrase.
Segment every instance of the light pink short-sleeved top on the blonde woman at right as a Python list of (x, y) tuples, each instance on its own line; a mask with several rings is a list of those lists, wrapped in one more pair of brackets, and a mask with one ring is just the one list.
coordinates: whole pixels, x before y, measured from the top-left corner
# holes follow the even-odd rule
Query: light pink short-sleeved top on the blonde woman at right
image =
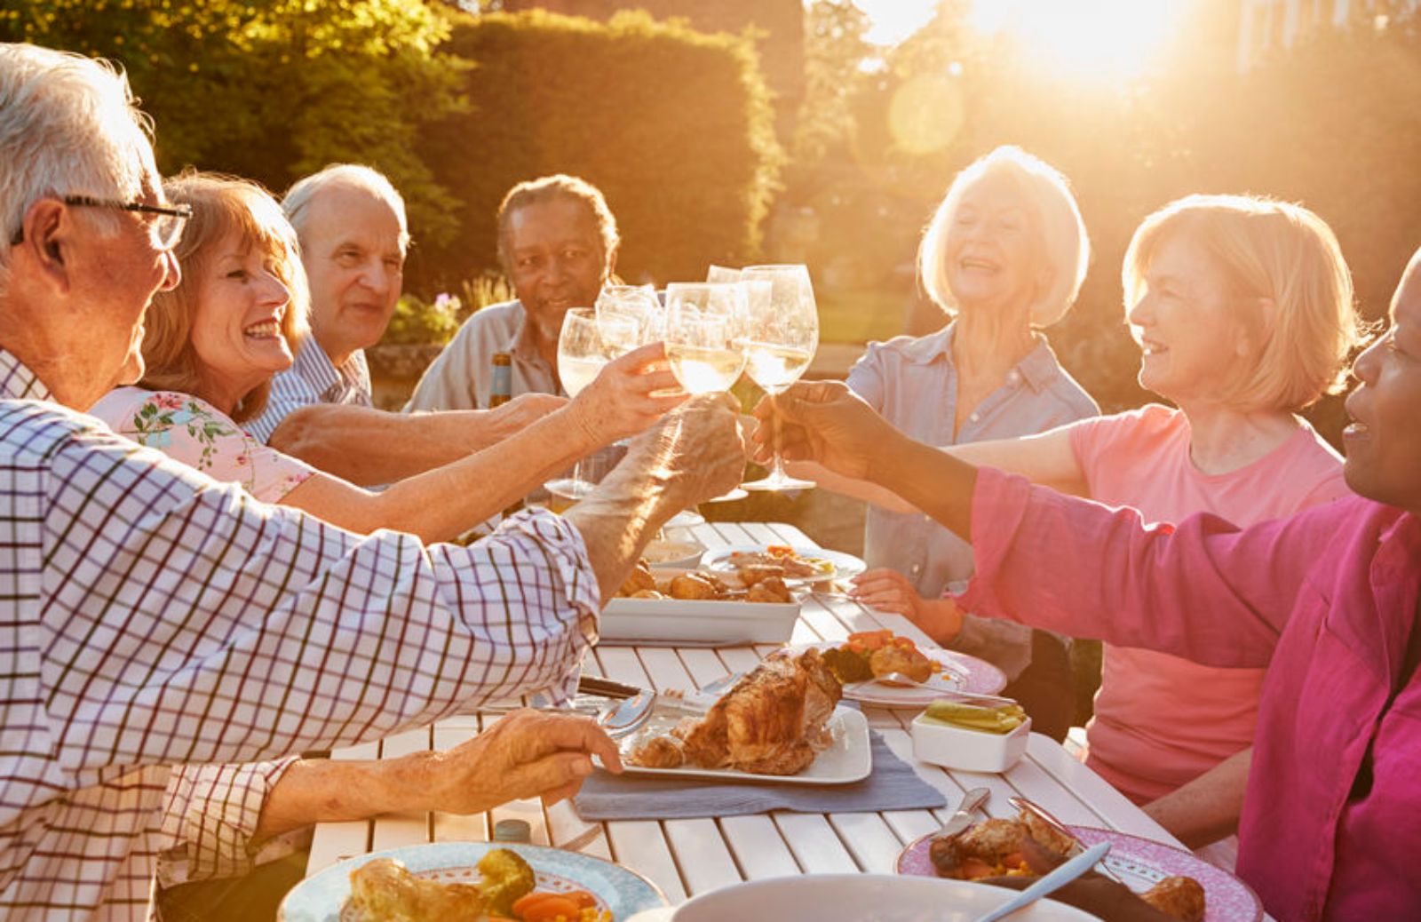
[[(1214, 513), (1238, 526), (1347, 496), (1339, 456), (1303, 423), (1287, 442), (1225, 474), (1189, 460), (1189, 422), (1167, 406), (1070, 426), (1088, 496), (1145, 521)], [(1135, 803), (1168, 794), (1253, 740), (1262, 669), (1218, 669), (1106, 645), (1086, 764)]]

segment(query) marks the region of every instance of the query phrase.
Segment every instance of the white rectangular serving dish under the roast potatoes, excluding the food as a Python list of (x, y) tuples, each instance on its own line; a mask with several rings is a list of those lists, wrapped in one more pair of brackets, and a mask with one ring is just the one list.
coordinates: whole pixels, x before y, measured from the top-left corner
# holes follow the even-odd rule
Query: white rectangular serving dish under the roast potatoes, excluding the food
[[(657, 580), (685, 573), (652, 568)], [(696, 645), (784, 644), (794, 634), (800, 602), (736, 600), (614, 598), (603, 608), (597, 632), (603, 641), (632, 644), (684, 641)]]

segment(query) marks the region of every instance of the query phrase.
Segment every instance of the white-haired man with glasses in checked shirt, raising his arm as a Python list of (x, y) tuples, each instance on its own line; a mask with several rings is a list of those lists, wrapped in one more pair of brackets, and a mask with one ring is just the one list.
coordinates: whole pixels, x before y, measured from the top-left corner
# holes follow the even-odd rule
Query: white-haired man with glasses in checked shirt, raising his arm
[[(566, 519), (475, 547), (354, 536), (82, 411), (142, 372), (183, 212), (112, 68), (0, 45), (0, 915), (142, 919), (172, 763), (234, 763), (566, 695), (645, 538), (723, 492), (725, 403), (634, 442)], [(260, 781), (253, 781), (259, 784)], [(213, 810), (240, 808), (240, 791)]]

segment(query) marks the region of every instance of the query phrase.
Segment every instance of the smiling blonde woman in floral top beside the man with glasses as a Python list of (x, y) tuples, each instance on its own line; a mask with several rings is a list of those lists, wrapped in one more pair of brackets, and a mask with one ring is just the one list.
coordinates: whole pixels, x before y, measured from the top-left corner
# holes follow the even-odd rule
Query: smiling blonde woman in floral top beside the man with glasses
[(458, 537), (583, 455), (639, 432), (684, 396), (669, 371), (648, 371), (661, 347), (611, 362), (568, 405), (459, 462), (371, 492), (267, 448), (242, 423), (260, 415), (271, 378), (306, 332), (307, 288), (296, 234), (261, 188), (192, 173), (165, 183), (192, 206), (176, 256), (182, 281), (159, 293), (144, 334), (146, 372), (91, 411), (267, 503), (351, 531), (395, 528), (425, 541)]

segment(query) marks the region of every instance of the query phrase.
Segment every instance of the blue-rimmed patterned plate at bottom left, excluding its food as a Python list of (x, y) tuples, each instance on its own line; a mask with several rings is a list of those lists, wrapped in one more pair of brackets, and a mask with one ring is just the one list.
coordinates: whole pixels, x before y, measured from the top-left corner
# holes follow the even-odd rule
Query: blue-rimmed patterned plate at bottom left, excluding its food
[(344, 906), (351, 895), (351, 871), (374, 858), (398, 858), (422, 878), (476, 884), (480, 877), (479, 859), (495, 848), (516, 851), (533, 865), (540, 891), (590, 892), (597, 898), (598, 909), (612, 913), (612, 922), (624, 922), (642, 909), (666, 905), (666, 896), (655, 884), (635, 871), (593, 855), (507, 842), (431, 842), (348, 858), (306, 878), (281, 901), (277, 921), (348, 922)]

